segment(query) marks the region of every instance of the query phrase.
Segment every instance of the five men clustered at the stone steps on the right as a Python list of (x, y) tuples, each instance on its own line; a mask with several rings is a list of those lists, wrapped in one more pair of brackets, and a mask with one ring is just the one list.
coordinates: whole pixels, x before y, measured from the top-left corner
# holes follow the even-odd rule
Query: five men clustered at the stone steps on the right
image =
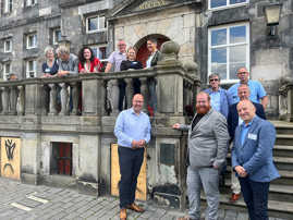
[(240, 82), (225, 90), (218, 74), (209, 75), (210, 88), (197, 95), (197, 113), (191, 125), (173, 125), (188, 131), (190, 212), (182, 219), (200, 219), (202, 187), (208, 205), (206, 219), (218, 219), (219, 176), (225, 171), (230, 146), (230, 201), (236, 201), (242, 193), (249, 219), (268, 220), (269, 184), (280, 176), (272, 159), (276, 129), (266, 121), (268, 97), (263, 85), (248, 76), (247, 69), (240, 68)]

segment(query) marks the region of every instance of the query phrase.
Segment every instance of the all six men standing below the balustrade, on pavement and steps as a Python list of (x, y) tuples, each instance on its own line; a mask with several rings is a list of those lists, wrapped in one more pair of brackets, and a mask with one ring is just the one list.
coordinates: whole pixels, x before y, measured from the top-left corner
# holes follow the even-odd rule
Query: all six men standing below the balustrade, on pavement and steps
[[(200, 219), (200, 190), (207, 199), (208, 220), (218, 219), (219, 176), (225, 167), (229, 146), (232, 161), (232, 195), (241, 193), (251, 220), (268, 220), (269, 184), (279, 178), (273, 164), (272, 148), (276, 129), (266, 120), (268, 103), (263, 85), (248, 78), (246, 68), (237, 70), (240, 82), (228, 90), (220, 87), (220, 76), (209, 75), (210, 88), (196, 96), (196, 114), (190, 125), (175, 123), (175, 130), (188, 131), (187, 196), (190, 211), (183, 220)], [(144, 97), (136, 94), (133, 107), (122, 111), (115, 122), (119, 145), (120, 219), (126, 209), (144, 211), (135, 200), (137, 176), (144, 148), (150, 139), (149, 118), (142, 111)]]

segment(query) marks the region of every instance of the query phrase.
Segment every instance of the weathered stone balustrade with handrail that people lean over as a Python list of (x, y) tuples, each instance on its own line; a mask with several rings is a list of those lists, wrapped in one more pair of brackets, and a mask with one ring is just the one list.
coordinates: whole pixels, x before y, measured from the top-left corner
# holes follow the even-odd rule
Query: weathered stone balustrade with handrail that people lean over
[[(133, 96), (132, 78), (141, 80), (141, 93), (148, 97), (149, 77), (157, 80), (158, 113), (183, 115), (184, 106), (193, 106), (193, 95), (199, 81), (176, 64), (115, 73), (0, 82), (0, 110), (4, 115), (108, 115), (110, 105), (110, 114), (115, 115), (119, 112), (118, 80), (123, 78), (126, 83), (129, 108)], [(78, 106), (81, 100), (82, 107), (81, 103)], [(107, 105), (108, 108), (105, 108)], [(146, 105), (144, 110), (147, 110)]]

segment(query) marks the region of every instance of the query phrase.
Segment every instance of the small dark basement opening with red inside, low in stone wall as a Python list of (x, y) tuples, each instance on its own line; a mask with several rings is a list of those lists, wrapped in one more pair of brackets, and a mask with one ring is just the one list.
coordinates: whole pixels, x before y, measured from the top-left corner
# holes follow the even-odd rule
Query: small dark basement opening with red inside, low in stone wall
[(72, 175), (72, 143), (52, 143), (50, 173)]

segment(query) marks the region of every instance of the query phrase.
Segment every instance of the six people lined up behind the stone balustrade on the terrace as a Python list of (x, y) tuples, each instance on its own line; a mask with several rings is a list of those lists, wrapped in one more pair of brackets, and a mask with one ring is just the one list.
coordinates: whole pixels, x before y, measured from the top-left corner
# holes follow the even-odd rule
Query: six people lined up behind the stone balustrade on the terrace
[[(161, 52), (157, 48), (157, 39), (150, 38), (147, 40), (147, 49), (149, 51), (148, 59), (145, 63), (145, 68), (151, 68), (157, 65), (157, 62), (161, 60)], [(102, 63), (90, 47), (83, 47), (78, 57), (71, 53), (69, 48), (60, 46), (54, 54), (54, 49), (52, 47), (47, 47), (45, 49), (46, 62), (42, 63), (44, 77), (56, 77), (65, 75), (77, 75), (84, 73), (96, 73), (102, 72)], [(105, 72), (110, 71), (120, 72), (126, 70), (138, 70), (144, 69), (141, 61), (136, 59), (136, 49), (134, 47), (129, 47), (126, 49), (126, 44), (123, 39), (118, 41), (118, 51), (113, 51), (107, 62)], [(119, 111), (125, 109), (125, 81), (119, 80)], [(156, 80), (154, 77), (148, 78), (149, 88), (149, 108), (150, 114), (157, 110), (157, 96), (156, 96)], [(133, 78), (133, 89), (134, 95), (141, 93), (141, 81), (138, 78)], [(109, 91), (111, 94), (111, 91)]]

